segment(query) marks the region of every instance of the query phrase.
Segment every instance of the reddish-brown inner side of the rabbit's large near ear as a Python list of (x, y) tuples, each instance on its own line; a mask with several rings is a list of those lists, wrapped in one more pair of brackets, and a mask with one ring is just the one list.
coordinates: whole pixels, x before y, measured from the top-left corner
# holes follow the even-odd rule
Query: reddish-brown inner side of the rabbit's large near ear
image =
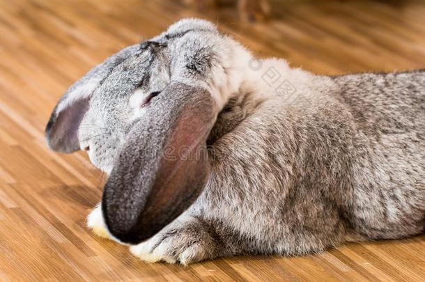
[[(212, 123), (208, 111), (187, 109), (180, 116), (163, 152), (146, 214), (155, 220), (163, 207), (189, 207), (209, 174), (206, 139)], [(192, 200), (191, 200), (192, 199)], [(170, 206), (174, 203), (174, 206)], [(180, 206), (179, 206), (180, 205)]]

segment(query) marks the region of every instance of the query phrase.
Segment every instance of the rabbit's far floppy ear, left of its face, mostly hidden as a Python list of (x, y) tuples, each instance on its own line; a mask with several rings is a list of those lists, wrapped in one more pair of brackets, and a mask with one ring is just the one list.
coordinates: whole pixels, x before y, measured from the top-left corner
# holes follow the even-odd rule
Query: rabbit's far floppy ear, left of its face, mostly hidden
[(79, 150), (77, 132), (79, 125), (88, 110), (88, 103), (102, 79), (105, 79), (112, 68), (122, 63), (125, 58), (134, 54), (139, 45), (132, 45), (107, 58), (103, 63), (91, 69), (84, 77), (72, 84), (63, 94), (50, 115), (46, 125), (45, 137), (52, 150), (74, 152)]

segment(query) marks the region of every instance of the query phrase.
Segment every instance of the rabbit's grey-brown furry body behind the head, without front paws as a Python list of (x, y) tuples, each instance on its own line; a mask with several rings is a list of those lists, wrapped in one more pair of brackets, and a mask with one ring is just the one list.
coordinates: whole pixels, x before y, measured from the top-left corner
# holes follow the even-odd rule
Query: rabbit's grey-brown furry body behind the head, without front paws
[(291, 99), (231, 101), (212, 130), (210, 180), (192, 209), (249, 237), (245, 251), (300, 254), (422, 232), (422, 76), (314, 77)]

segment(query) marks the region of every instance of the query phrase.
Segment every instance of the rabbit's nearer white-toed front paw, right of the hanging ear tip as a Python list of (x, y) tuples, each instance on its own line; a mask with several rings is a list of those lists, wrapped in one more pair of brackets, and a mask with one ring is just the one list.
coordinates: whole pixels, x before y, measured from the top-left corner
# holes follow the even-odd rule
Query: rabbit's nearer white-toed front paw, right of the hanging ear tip
[(149, 263), (164, 261), (188, 265), (217, 256), (215, 240), (194, 222), (158, 233), (146, 242), (130, 246), (130, 252)]

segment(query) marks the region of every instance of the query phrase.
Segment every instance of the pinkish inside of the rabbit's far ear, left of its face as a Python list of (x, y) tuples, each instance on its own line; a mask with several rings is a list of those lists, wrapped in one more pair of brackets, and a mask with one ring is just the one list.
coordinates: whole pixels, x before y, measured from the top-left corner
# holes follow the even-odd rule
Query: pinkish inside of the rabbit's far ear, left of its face
[(78, 129), (88, 111), (89, 98), (76, 100), (58, 113), (52, 113), (46, 127), (46, 139), (52, 150), (74, 152), (79, 150)]

